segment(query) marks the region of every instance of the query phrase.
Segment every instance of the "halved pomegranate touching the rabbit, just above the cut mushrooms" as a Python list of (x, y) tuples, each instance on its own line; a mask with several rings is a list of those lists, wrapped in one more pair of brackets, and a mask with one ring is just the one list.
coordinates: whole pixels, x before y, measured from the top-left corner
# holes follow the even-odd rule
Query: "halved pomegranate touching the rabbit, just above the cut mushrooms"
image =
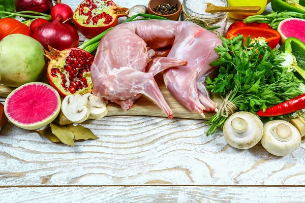
[(62, 96), (90, 93), (93, 88), (90, 67), (94, 56), (78, 48), (58, 51), (49, 47), (49, 50), (46, 51), (46, 56), (50, 59), (48, 65), (50, 85)]

